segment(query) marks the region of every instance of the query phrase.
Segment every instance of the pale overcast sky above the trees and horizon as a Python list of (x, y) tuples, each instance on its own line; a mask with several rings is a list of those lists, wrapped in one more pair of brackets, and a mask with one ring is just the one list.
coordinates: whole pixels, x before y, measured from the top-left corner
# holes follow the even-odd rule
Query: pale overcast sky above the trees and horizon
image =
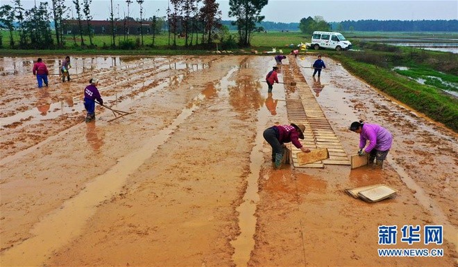
[[(25, 8), (31, 8), (40, 0), (22, 0)], [(44, 0), (42, 0), (44, 1)], [(49, 1), (49, 0), (48, 0)], [(51, 1), (49, 1), (51, 2)], [(83, 2), (83, 0), (80, 0)], [(223, 19), (228, 17), (229, 1), (218, 1)], [(0, 5), (12, 4), (11, 0), (0, 0)], [(146, 17), (166, 15), (168, 1), (145, 0)], [(68, 6), (73, 6), (67, 1)], [(51, 5), (50, 5), (51, 6)], [(114, 17), (128, 14), (126, 1), (113, 0)], [(91, 5), (94, 19), (107, 19), (110, 16), (110, 0), (93, 0)], [(118, 13), (119, 11), (119, 13)], [(139, 17), (139, 6), (135, 0), (130, 4), (130, 17)], [(359, 19), (458, 19), (458, 0), (269, 0), (262, 9), (264, 21), (299, 22), (303, 17), (322, 16), (325, 21), (345, 21)]]

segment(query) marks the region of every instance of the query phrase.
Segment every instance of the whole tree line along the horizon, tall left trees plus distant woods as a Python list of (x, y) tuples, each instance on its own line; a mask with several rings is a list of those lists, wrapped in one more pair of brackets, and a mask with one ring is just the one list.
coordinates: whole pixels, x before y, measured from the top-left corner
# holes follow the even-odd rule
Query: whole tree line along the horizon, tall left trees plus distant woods
[[(76, 33), (82, 48), (94, 48), (94, 26), (91, 10), (92, 0), (72, 0), (73, 6), (66, 6), (65, 0), (51, 0), (40, 2), (37, 6), (26, 10), (21, 0), (13, 0), (12, 5), (0, 6), (0, 27), (8, 31), (10, 48), (20, 49), (49, 49), (64, 48), (66, 45), (65, 29), (69, 28), (69, 21), (77, 21), (77, 30), (71, 30), (74, 46), (77, 46)], [(300, 30), (305, 34), (314, 30), (336, 31), (442, 31), (457, 32), (458, 20), (423, 20), (423, 21), (378, 21), (359, 20), (328, 23), (322, 16), (300, 19), (298, 24), (283, 24), (264, 21), (262, 9), (269, 3), (268, 0), (230, 0), (229, 17), (232, 21), (221, 21), (221, 10), (216, 0), (170, 0), (166, 17), (156, 17), (146, 14), (143, 9), (144, 0), (126, 0), (127, 9), (131, 4), (139, 6), (139, 19), (124, 17), (114, 18), (113, 3), (110, 0), (110, 42), (112, 48), (135, 48), (144, 46), (144, 23), (153, 29), (153, 44), (156, 34), (162, 34), (167, 29), (171, 47), (177, 46), (177, 38), (185, 39), (185, 46), (205, 46), (214, 42), (224, 46), (249, 46), (255, 31), (262, 30)], [(75, 10), (76, 14), (70, 12)], [(116, 42), (119, 29), (115, 27), (122, 21), (124, 39)], [(51, 23), (52, 22), (52, 23)], [(139, 26), (137, 44), (128, 36), (129, 23)], [(51, 25), (53, 26), (51, 28)], [(237, 38), (228, 33), (229, 29), (237, 30)], [(15, 38), (15, 33), (19, 38)], [(3, 45), (3, 35), (0, 35), (0, 46)], [(89, 43), (85, 41), (89, 38)], [(135, 47), (133, 47), (135, 46)]]

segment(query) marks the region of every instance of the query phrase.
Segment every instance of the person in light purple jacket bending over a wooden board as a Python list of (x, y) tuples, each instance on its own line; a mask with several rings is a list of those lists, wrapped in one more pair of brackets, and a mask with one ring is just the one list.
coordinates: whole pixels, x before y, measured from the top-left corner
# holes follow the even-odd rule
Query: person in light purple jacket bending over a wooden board
[[(391, 133), (381, 127), (380, 125), (353, 122), (350, 125), (350, 131), (359, 133), (359, 156), (369, 154), (368, 163), (373, 164), (375, 160), (376, 167), (383, 167), (383, 160), (387, 158), (388, 151), (391, 149), (393, 143), (393, 136)], [(369, 141), (366, 146), (366, 142)], [(364, 148), (366, 147), (366, 148)]]

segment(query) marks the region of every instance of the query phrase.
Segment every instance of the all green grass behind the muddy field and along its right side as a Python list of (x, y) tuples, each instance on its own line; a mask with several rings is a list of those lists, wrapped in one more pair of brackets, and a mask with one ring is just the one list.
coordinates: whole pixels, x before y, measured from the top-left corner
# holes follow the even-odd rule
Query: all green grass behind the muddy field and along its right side
[[(232, 33), (234, 34), (234, 33)], [(456, 98), (445, 95), (440, 89), (454, 91), (458, 80), (458, 55), (421, 50), (416, 48), (400, 48), (386, 46), (372, 42), (362, 41), (368, 37), (393, 38), (393, 37), (439, 37), (453, 38), (457, 33), (344, 33), (353, 43), (354, 48), (362, 51), (343, 51), (338, 53), (332, 50), (307, 50), (307, 53), (322, 53), (339, 60), (351, 73), (357, 75), (375, 88), (396, 98), (410, 107), (425, 113), (430, 118), (442, 122), (444, 125), (458, 131), (458, 101)], [(351, 39), (351, 37), (355, 39)], [(177, 46), (168, 46), (167, 34), (155, 37), (155, 46), (151, 47), (152, 37), (144, 36), (144, 47), (133, 50), (110, 49), (111, 37), (97, 35), (94, 37), (96, 48), (81, 48), (80, 37), (76, 37), (76, 44), (72, 36), (66, 37), (67, 48), (61, 50), (11, 50), (2, 49), (2, 55), (208, 55), (216, 50), (216, 45), (209, 47), (184, 46), (184, 39), (177, 38)], [(130, 37), (131, 42), (138, 44), (139, 39)], [(117, 37), (117, 44), (124, 37)], [(89, 38), (84, 37), (85, 44)], [(298, 32), (279, 33), (253, 33), (251, 48), (244, 51), (235, 48), (221, 47), (219, 50), (228, 49), (234, 53), (246, 53), (249, 50), (258, 52), (277, 48), (287, 54), (291, 50), (289, 44), (310, 42), (310, 37)], [(3, 46), (8, 43), (8, 35), (3, 31)], [(407, 66), (408, 71), (393, 71), (393, 66)], [(398, 72), (398, 73), (396, 73)], [(402, 75), (399, 75), (402, 74)], [(425, 84), (419, 84), (404, 75), (415, 79), (427, 76), (439, 77), (425, 79)], [(443, 82), (441, 82), (443, 81)], [(448, 85), (444, 82), (448, 82)]]

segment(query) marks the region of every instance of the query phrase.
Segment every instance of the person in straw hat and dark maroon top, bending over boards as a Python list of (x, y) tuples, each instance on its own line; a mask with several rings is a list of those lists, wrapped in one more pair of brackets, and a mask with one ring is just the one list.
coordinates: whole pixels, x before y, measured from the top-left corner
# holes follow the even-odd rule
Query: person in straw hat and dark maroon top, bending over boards
[(309, 153), (310, 149), (303, 147), (299, 139), (304, 139), (304, 125), (275, 125), (264, 130), (264, 139), (272, 147), (272, 161), (278, 169), (282, 165), (284, 143), (292, 142), (295, 147)]

